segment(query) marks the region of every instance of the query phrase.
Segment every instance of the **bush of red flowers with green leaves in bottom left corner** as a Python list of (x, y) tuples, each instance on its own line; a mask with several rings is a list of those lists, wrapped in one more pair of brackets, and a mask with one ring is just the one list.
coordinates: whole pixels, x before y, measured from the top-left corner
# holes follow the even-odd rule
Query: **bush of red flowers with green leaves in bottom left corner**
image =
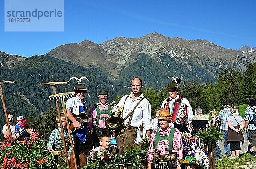
[(53, 169), (53, 155), (37, 136), (35, 132), (31, 140), (0, 142), (0, 169)]

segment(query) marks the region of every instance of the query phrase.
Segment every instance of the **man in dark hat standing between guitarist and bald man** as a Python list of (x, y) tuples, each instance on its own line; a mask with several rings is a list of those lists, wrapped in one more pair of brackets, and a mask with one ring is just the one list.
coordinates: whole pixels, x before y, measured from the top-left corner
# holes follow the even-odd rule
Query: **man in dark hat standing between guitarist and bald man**
[[(90, 130), (93, 129), (93, 144), (95, 147), (99, 146), (100, 135), (110, 135), (110, 130), (105, 126), (106, 118), (111, 114), (111, 105), (108, 103), (108, 96), (109, 94), (107, 90), (100, 90), (98, 92), (99, 102), (90, 107), (88, 117), (97, 118), (97, 120), (93, 121), (93, 123), (88, 122), (88, 128)], [(103, 118), (103, 120), (99, 118)]]

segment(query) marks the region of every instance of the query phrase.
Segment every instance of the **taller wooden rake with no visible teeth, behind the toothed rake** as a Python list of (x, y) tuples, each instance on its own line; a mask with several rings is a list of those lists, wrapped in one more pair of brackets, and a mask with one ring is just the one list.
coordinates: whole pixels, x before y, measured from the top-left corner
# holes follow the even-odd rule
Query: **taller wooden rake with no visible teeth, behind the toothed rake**
[[(39, 85), (52, 86), (53, 94), (57, 94), (56, 86), (67, 86), (67, 82), (45, 82), (45, 83), (40, 83)], [(64, 146), (64, 153), (65, 153), (65, 157), (66, 157), (67, 168), (69, 169), (70, 165), (69, 165), (68, 155), (67, 155), (67, 146), (66, 146), (63, 126), (62, 126), (62, 123), (61, 123), (61, 111), (60, 111), (60, 108), (59, 108), (58, 100), (55, 100), (55, 104), (56, 104), (56, 109), (57, 109), (57, 112), (58, 112), (58, 119), (59, 119), (59, 122), (60, 122), (61, 139), (62, 139), (62, 142), (64, 143), (63, 146)], [(69, 137), (71, 138), (70, 134), (69, 134)]]

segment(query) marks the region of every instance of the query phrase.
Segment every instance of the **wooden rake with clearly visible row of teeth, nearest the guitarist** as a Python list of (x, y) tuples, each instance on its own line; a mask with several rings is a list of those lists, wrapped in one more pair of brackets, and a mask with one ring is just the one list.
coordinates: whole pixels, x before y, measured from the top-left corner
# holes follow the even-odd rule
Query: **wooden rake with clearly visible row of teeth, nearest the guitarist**
[(56, 100), (56, 102), (58, 102), (58, 99), (61, 99), (62, 109), (63, 109), (64, 115), (65, 115), (65, 118), (66, 118), (67, 131), (68, 131), (68, 134), (70, 135), (70, 137), (69, 137), (70, 138), (70, 146), (71, 146), (71, 149), (72, 149), (74, 166), (75, 166), (75, 169), (77, 169), (75, 151), (74, 151), (73, 142), (72, 142), (72, 138), (71, 138), (70, 127), (68, 125), (68, 117), (67, 117), (67, 110), (66, 110), (66, 103), (65, 103), (65, 98), (70, 98), (70, 97), (73, 97), (74, 95), (75, 95), (75, 92), (58, 93), (58, 94), (55, 94), (55, 95), (48, 96), (48, 100), (49, 101), (50, 100)]

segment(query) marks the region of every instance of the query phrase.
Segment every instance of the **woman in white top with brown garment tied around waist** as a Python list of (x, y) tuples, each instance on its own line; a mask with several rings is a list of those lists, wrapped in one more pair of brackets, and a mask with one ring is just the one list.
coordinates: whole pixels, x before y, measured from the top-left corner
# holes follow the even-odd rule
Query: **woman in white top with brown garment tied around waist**
[(230, 144), (230, 158), (238, 158), (241, 150), (240, 142), (244, 143), (244, 136), (241, 131), (244, 128), (244, 119), (236, 113), (237, 109), (235, 106), (231, 107), (230, 111), (231, 116), (227, 118), (228, 131), (225, 144)]

